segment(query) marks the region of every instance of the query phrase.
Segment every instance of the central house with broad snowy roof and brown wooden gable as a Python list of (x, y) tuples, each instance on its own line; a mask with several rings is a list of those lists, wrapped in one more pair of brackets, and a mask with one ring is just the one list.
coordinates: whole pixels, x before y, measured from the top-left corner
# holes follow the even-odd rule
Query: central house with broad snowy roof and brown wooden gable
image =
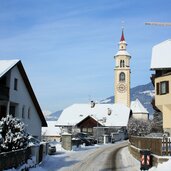
[(93, 133), (94, 127), (126, 127), (130, 118), (130, 108), (116, 104), (73, 104), (63, 110), (56, 126), (68, 132), (73, 128), (81, 132)]

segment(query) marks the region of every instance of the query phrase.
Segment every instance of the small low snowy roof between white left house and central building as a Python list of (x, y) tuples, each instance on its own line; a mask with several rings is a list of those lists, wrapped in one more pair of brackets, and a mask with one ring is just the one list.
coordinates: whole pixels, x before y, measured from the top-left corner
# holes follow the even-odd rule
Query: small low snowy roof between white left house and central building
[(46, 121), (48, 127), (42, 127), (42, 135), (44, 136), (58, 136), (61, 133), (59, 127), (55, 127), (56, 121)]

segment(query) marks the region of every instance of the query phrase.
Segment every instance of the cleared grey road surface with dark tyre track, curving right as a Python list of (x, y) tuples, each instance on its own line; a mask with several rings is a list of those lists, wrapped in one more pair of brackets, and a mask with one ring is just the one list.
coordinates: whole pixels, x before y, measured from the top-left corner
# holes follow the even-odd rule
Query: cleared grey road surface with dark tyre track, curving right
[(128, 142), (98, 148), (84, 160), (72, 166), (70, 171), (138, 171), (135, 159), (129, 154)]

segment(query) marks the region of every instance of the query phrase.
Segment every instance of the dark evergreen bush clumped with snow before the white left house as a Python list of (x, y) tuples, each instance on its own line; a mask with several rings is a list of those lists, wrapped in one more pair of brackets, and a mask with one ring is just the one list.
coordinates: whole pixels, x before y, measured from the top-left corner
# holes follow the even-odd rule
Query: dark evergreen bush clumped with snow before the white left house
[(0, 121), (0, 152), (25, 148), (28, 145), (28, 134), (24, 123), (7, 115)]

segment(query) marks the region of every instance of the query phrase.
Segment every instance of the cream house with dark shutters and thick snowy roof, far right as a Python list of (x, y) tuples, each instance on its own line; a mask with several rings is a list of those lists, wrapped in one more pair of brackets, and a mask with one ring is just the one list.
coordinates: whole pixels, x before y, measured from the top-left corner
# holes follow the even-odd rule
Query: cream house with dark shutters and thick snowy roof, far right
[(163, 114), (163, 129), (171, 135), (171, 40), (152, 49), (151, 70), (155, 87), (155, 106)]

